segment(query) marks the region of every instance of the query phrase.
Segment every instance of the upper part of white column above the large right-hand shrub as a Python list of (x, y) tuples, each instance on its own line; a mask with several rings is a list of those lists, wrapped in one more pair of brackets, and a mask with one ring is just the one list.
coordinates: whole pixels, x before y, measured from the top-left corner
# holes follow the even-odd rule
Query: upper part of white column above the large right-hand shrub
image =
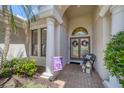
[(112, 35), (117, 32), (124, 31), (124, 6), (112, 6)]

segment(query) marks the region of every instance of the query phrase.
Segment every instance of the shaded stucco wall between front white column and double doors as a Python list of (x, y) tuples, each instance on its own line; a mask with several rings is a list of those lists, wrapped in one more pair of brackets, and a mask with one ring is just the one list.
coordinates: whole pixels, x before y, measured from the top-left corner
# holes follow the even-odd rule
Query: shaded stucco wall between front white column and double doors
[(56, 26), (55, 32), (55, 55), (62, 56), (64, 65), (68, 62), (68, 30), (67, 30), (67, 19), (63, 17), (63, 24)]

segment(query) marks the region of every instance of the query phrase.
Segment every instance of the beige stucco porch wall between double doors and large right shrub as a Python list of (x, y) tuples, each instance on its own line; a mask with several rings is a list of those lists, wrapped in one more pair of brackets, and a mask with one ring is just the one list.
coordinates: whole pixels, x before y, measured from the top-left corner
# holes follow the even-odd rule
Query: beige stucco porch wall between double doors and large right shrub
[(95, 68), (99, 73), (100, 77), (104, 80), (108, 78), (108, 71), (104, 64), (104, 50), (106, 43), (110, 39), (111, 33), (111, 16), (105, 15), (104, 17), (99, 16), (99, 9), (96, 8), (94, 12), (93, 22), (93, 53), (96, 55), (97, 60)]

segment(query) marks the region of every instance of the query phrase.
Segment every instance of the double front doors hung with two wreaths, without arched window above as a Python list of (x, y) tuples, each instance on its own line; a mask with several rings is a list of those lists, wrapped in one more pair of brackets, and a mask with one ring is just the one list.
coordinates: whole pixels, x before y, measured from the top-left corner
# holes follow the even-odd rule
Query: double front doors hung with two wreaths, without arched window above
[(81, 60), (82, 56), (90, 52), (89, 37), (70, 38), (70, 59)]

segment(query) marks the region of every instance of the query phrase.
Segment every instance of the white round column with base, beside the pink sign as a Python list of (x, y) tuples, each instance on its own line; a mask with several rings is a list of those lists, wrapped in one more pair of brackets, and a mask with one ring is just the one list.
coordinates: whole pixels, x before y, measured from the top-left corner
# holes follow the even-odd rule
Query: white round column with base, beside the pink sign
[(55, 55), (54, 34), (55, 34), (55, 20), (47, 18), (47, 46), (46, 46), (46, 72), (45, 76), (52, 76), (52, 58)]

